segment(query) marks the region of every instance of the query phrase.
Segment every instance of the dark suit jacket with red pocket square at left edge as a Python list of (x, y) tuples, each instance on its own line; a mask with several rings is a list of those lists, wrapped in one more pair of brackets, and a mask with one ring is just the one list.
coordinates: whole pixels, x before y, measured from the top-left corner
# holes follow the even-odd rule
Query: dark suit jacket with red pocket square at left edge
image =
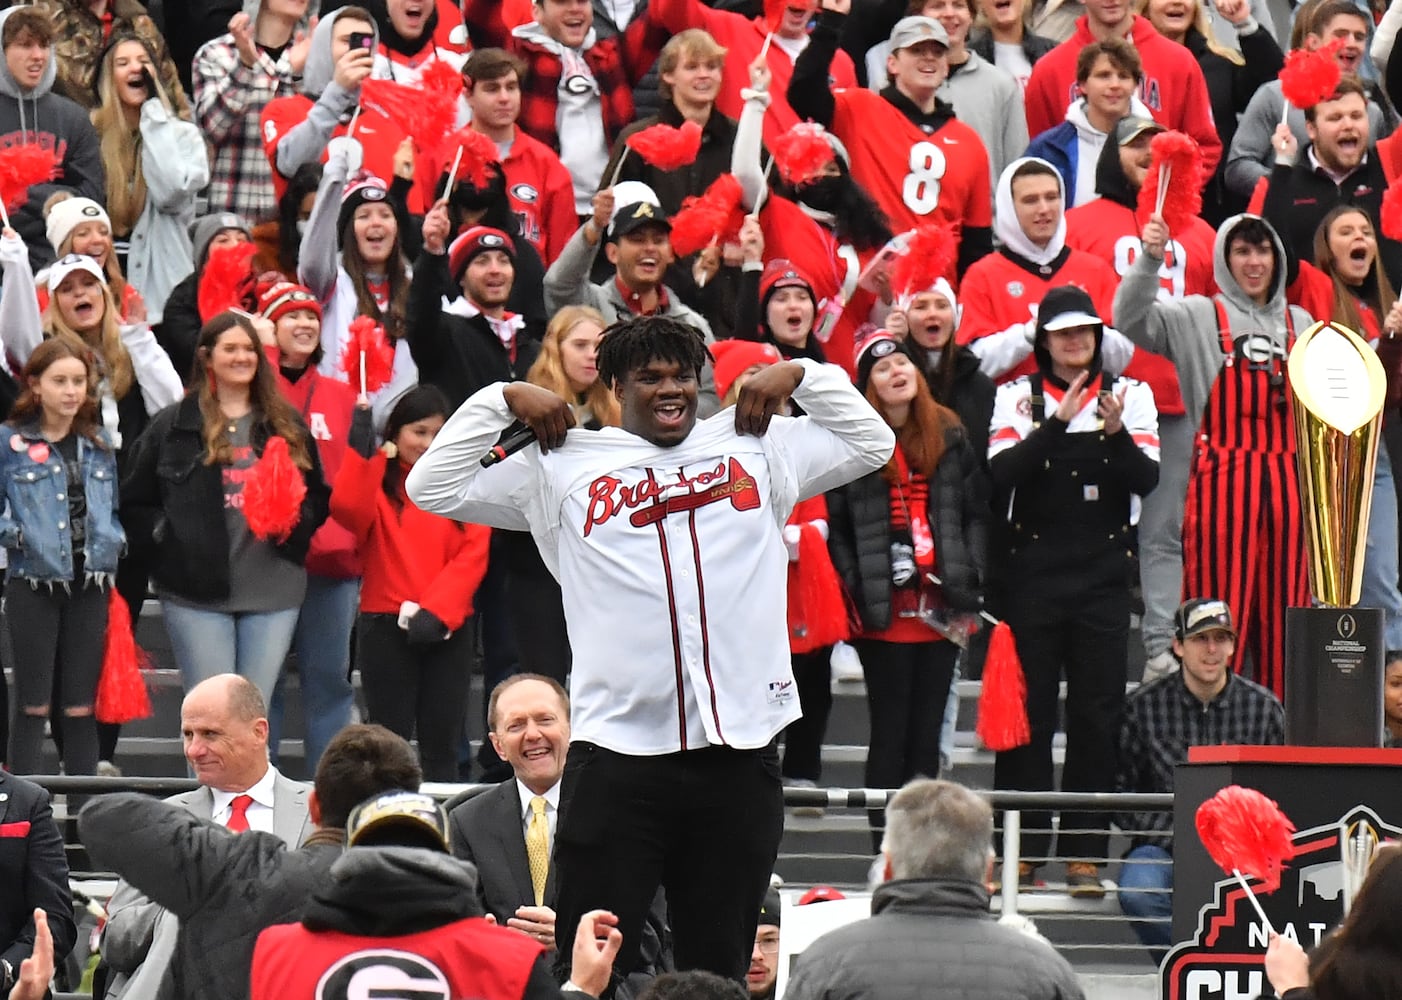
[(49, 917), (55, 954), (73, 951), (79, 931), (63, 835), (53, 822), (49, 792), (3, 770), (0, 886), (0, 996), (8, 996), (20, 964), (34, 951), (35, 909)]

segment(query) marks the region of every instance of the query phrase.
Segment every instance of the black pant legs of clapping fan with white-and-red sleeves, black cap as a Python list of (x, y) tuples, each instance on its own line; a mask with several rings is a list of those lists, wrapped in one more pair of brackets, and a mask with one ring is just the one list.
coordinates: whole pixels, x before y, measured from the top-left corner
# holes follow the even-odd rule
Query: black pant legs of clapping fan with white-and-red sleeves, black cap
[[(1066, 675), (1066, 764), (1061, 791), (1115, 791), (1115, 759), (1124, 705), (1129, 596), (1102, 593), (1057, 604), (1014, 604), (1008, 624), (1028, 680), (1032, 742), (1000, 753), (997, 788), (1047, 791), (1053, 787), (1052, 736), (1057, 731), (1057, 686)], [(1063, 812), (1057, 854), (1068, 861), (1103, 861), (1109, 850), (1108, 813)], [(1052, 813), (1022, 813), (1022, 858), (1052, 857)]]

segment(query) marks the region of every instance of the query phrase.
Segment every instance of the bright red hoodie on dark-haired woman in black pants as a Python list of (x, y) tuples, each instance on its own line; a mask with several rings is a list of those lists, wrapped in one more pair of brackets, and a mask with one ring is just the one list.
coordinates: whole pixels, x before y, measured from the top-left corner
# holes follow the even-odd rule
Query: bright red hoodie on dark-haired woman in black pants
[(472, 595), (486, 572), (489, 527), (428, 513), (404, 498), (395, 508), (384, 492), (383, 452), (363, 459), (346, 449), (331, 487), (331, 516), (350, 529), (365, 557), (363, 614), (398, 614), (405, 600), (432, 612), (451, 631), (472, 614)]

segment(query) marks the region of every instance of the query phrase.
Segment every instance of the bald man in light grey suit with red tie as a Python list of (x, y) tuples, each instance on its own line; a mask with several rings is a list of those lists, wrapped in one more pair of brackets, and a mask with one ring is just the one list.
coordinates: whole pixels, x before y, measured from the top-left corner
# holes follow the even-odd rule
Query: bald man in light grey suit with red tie
[[(266, 717), (262, 694), (245, 677), (222, 673), (191, 689), (181, 704), (181, 738), (199, 788), (170, 801), (233, 830), (273, 833), (292, 849), (313, 830), (311, 785), (269, 763)], [(102, 930), (108, 1000), (172, 1000), (168, 966), (178, 934), (171, 913), (121, 882)]]

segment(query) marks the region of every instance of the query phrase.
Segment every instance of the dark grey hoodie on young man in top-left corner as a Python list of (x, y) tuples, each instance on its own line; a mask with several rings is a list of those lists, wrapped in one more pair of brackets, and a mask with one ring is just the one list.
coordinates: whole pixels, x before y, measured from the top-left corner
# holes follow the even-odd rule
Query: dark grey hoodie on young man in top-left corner
[[(0, 11), (0, 31), (15, 10)], [(55, 180), (35, 184), (20, 210), (10, 213), (10, 226), (24, 237), (35, 271), (53, 259), (53, 247), (43, 229), (43, 202), (57, 191), (72, 191), (98, 203), (107, 198), (97, 132), (87, 111), (53, 93), (57, 72), (57, 59), (50, 48), (38, 86), (25, 90), (10, 67), (0, 62), (0, 149), (42, 146), (53, 150), (59, 164)]]

